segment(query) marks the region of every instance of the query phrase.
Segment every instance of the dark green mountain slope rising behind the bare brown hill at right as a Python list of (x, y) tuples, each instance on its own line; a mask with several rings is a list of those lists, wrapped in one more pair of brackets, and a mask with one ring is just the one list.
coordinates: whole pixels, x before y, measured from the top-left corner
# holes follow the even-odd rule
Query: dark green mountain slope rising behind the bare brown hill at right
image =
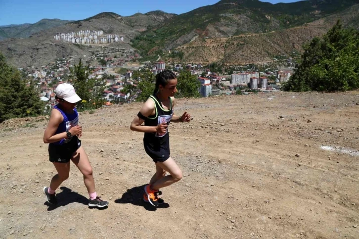
[[(311, 0), (293, 3), (259, 0), (221, 0), (173, 17), (133, 41), (142, 55), (158, 54), (195, 38), (228, 38), (246, 33), (266, 33), (301, 26), (334, 13), (347, 14), (358, 0)], [(359, 26), (359, 25), (357, 25)]]

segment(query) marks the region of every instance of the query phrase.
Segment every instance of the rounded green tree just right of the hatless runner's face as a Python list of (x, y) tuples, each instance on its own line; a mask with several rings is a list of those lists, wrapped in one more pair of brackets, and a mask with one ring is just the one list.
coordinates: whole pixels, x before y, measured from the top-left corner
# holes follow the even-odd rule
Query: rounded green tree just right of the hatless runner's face
[(177, 97), (200, 97), (198, 89), (201, 83), (198, 81), (196, 75), (192, 75), (189, 71), (181, 71), (177, 77)]

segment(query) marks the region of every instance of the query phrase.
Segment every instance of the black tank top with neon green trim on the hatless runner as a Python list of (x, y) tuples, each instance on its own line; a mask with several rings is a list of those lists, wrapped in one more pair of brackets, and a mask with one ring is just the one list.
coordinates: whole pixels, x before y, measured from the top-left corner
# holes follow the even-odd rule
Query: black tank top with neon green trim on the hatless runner
[[(150, 115), (145, 119), (144, 125), (145, 126), (157, 126), (162, 123), (167, 123), (167, 125), (170, 124), (172, 116), (173, 116), (173, 109), (172, 109), (172, 98), (170, 97), (171, 106), (169, 110), (165, 110), (162, 107), (161, 101), (156, 95), (149, 96), (150, 99), (153, 100), (155, 103), (155, 111), (156, 113), (154, 115)], [(153, 139), (153, 140), (162, 140), (161, 138), (168, 138), (168, 129), (166, 133), (164, 134), (158, 134), (158, 133), (144, 133), (144, 138), (146, 139)], [(164, 140), (163, 139), (163, 140)]]

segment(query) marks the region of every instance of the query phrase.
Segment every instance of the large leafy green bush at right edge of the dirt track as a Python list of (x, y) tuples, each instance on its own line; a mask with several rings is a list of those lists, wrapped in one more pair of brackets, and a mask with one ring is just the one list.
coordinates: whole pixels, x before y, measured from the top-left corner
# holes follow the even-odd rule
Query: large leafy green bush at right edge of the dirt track
[(321, 39), (304, 46), (301, 64), (284, 91), (347, 91), (359, 88), (359, 31), (338, 21)]

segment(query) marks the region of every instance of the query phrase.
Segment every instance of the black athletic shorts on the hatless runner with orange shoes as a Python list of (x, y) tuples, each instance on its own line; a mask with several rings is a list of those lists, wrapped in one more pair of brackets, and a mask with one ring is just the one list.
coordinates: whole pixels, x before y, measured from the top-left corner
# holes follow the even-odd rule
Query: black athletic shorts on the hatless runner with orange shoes
[[(168, 134), (167, 134), (168, 135)], [(170, 139), (164, 136), (164, 139), (159, 141), (156, 139), (143, 138), (144, 150), (153, 160), (153, 162), (164, 162), (170, 158)]]

